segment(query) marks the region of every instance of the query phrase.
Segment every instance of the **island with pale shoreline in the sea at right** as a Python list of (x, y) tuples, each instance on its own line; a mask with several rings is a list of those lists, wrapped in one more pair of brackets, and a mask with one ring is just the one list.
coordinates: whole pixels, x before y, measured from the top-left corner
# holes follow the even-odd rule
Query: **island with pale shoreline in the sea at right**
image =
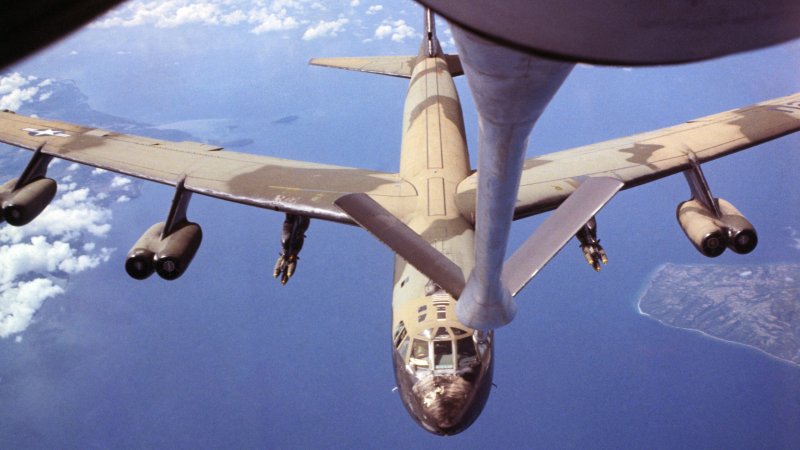
[(800, 365), (800, 264), (665, 264), (653, 274), (638, 307), (667, 325)]

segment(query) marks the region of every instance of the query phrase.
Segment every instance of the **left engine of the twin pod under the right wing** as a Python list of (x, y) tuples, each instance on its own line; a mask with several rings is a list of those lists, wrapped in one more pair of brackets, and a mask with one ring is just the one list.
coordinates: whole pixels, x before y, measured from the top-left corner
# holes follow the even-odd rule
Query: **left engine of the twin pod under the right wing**
[(700, 253), (715, 258), (725, 251), (725, 225), (698, 200), (687, 200), (678, 205), (677, 216), (686, 237)]

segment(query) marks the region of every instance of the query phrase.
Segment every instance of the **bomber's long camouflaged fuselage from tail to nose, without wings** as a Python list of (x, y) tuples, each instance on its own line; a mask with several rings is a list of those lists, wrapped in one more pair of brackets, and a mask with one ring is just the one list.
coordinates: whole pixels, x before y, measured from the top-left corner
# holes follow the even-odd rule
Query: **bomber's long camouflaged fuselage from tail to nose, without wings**
[[(437, 45), (438, 46), (438, 45)], [(471, 174), (461, 104), (444, 57), (416, 60), (403, 112), (400, 176), (417, 190), (400, 219), (463, 271), (474, 229), (455, 203)], [(456, 299), (395, 258), (393, 362), (403, 404), (425, 429), (455, 434), (480, 414), (492, 379), (492, 335), (458, 321)]]

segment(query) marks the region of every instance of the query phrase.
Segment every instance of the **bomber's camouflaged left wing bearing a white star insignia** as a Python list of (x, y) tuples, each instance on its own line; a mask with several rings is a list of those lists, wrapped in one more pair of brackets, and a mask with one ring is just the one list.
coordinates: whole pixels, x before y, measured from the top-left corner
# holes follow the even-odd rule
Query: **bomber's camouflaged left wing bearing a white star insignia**
[(355, 224), (334, 205), (367, 193), (389, 210), (415, 189), (397, 174), (225, 151), (0, 112), (0, 142), (266, 209)]

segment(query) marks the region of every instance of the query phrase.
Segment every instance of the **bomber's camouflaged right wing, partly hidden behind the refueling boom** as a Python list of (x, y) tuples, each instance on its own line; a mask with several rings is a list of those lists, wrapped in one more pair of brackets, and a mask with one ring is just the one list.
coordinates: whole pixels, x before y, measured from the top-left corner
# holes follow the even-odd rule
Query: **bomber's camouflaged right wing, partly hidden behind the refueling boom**
[[(800, 93), (647, 133), (525, 161), (514, 219), (556, 208), (587, 177), (611, 177), (631, 188), (698, 163), (800, 130)], [(462, 213), (475, 211), (477, 175), (458, 186)]]

